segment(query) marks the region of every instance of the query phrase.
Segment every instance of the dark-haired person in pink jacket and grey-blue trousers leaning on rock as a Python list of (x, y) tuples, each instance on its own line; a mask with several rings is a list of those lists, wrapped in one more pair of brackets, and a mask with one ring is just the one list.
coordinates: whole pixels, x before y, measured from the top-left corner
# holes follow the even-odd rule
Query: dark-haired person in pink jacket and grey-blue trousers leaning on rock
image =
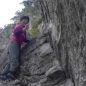
[(15, 74), (20, 67), (20, 50), (24, 42), (29, 42), (26, 39), (26, 30), (28, 28), (29, 17), (22, 16), (20, 22), (13, 28), (10, 35), (10, 43), (8, 46), (8, 62), (0, 74), (0, 80), (14, 80)]

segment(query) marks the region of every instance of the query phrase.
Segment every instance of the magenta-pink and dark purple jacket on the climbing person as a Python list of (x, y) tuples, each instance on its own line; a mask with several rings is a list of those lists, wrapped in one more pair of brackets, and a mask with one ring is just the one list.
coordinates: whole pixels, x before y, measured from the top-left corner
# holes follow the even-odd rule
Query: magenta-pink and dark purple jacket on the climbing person
[(10, 40), (16, 41), (20, 45), (26, 41), (26, 31), (23, 31), (25, 25), (23, 24), (16, 24), (12, 34), (10, 35)]

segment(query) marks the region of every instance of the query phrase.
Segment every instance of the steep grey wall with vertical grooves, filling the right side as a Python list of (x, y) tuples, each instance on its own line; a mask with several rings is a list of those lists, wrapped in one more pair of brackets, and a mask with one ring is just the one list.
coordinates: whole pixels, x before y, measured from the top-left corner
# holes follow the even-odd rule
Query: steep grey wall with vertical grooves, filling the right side
[[(38, 0), (51, 43), (75, 86), (86, 84), (86, 1)], [(43, 31), (43, 29), (42, 29)]]

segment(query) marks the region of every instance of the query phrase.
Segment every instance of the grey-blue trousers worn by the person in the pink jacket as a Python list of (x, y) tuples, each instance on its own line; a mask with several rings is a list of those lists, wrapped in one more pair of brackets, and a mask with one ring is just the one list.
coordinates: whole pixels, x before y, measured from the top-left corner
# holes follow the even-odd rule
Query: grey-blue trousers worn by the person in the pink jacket
[(20, 66), (20, 45), (11, 41), (8, 46), (8, 59), (2, 74), (7, 74), (9, 72), (17, 72)]

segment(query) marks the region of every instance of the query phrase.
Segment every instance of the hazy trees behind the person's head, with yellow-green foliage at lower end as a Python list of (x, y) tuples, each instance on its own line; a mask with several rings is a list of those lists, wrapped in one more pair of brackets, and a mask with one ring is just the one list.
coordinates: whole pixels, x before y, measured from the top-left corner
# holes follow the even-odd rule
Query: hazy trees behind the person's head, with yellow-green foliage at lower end
[(37, 0), (24, 0), (21, 4), (24, 5), (22, 11), (17, 11), (16, 16), (12, 18), (12, 20), (16, 23), (19, 20), (20, 16), (28, 15), (30, 17), (30, 34), (35, 37), (38, 34), (38, 25), (39, 21), (41, 21), (40, 10), (38, 8)]

